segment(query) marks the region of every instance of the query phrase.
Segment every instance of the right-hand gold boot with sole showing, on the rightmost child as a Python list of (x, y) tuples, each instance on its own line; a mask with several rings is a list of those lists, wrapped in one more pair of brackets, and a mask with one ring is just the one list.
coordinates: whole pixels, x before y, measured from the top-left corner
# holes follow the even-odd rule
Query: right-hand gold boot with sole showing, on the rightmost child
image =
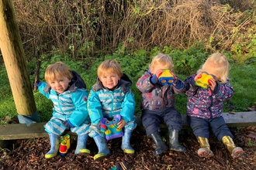
[(244, 150), (240, 147), (237, 147), (230, 136), (224, 136), (221, 141), (224, 145), (226, 145), (227, 150), (230, 151), (232, 158), (239, 158), (244, 154)]

